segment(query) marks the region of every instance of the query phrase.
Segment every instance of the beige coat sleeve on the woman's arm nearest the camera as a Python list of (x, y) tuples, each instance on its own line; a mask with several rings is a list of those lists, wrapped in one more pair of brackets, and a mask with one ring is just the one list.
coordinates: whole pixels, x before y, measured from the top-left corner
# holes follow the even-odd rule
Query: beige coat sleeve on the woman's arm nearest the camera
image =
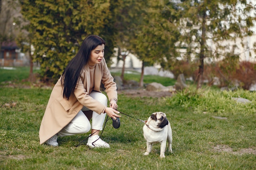
[(76, 99), (79, 101), (79, 103), (98, 114), (101, 114), (106, 108), (106, 106), (102, 105), (99, 101), (88, 95), (88, 91), (84, 88), (82, 77), (80, 77), (78, 81), (74, 95), (76, 96)]

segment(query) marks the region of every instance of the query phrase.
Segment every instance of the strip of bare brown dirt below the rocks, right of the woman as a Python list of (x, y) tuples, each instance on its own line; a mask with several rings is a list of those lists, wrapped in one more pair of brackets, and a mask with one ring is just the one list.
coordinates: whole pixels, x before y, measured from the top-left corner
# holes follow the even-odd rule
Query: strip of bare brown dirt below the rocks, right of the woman
[(129, 97), (171, 97), (170, 91), (147, 91), (146, 89), (127, 89), (120, 90), (118, 94), (128, 95)]

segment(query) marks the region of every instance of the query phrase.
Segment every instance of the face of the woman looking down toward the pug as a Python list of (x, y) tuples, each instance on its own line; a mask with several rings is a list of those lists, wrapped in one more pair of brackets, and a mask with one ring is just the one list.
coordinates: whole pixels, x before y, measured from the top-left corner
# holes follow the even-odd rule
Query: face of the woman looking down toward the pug
[(91, 51), (90, 58), (88, 61), (90, 66), (98, 64), (102, 61), (104, 57), (104, 49), (105, 49), (105, 45), (102, 44), (102, 45), (98, 45), (96, 48), (94, 48)]

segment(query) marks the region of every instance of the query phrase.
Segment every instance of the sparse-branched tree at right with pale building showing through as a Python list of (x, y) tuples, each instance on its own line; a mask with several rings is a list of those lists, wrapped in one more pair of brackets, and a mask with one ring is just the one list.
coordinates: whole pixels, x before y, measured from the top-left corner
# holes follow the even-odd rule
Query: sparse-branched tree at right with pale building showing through
[(199, 61), (197, 88), (200, 88), (206, 57), (212, 60), (230, 57), (238, 61), (236, 44), (230, 46), (225, 41), (235, 42), (236, 38), (252, 35), (256, 6), (246, 0), (175, 0), (175, 3), (180, 16), (178, 45), (186, 47), (185, 57), (194, 56)]

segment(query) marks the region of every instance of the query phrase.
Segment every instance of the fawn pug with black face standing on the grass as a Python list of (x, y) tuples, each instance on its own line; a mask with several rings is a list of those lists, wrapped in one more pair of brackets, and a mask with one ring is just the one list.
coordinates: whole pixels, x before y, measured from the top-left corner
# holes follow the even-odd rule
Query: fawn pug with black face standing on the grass
[(168, 150), (172, 153), (172, 128), (165, 113), (152, 113), (148, 120), (145, 121), (143, 135), (147, 141), (147, 150), (144, 155), (148, 155), (151, 152), (153, 143), (160, 143), (160, 158), (164, 158), (166, 140), (168, 140)]

